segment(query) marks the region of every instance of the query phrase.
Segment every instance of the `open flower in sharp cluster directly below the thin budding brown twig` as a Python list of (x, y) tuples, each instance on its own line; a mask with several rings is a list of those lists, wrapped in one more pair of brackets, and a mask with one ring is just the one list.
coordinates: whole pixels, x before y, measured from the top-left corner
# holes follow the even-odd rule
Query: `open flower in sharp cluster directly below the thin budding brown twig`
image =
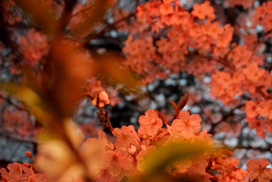
[[(118, 138), (115, 142), (115, 147), (124, 147), (126, 150), (129, 148), (129, 144), (137, 144), (138, 135), (132, 125), (129, 127), (122, 126), (122, 128), (114, 128), (112, 134)], [(140, 138), (139, 138), (140, 140)]]

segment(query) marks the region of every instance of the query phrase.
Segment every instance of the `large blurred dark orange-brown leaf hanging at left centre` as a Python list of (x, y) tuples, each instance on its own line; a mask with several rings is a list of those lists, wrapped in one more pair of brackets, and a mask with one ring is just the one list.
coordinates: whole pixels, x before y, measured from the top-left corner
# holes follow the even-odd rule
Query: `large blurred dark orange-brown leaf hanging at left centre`
[(82, 84), (97, 69), (88, 50), (78, 42), (56, 39), (51, 42), (47, 75), (50, 75), (47, 93), (61, 118), (69, 117), (84, 91)]

